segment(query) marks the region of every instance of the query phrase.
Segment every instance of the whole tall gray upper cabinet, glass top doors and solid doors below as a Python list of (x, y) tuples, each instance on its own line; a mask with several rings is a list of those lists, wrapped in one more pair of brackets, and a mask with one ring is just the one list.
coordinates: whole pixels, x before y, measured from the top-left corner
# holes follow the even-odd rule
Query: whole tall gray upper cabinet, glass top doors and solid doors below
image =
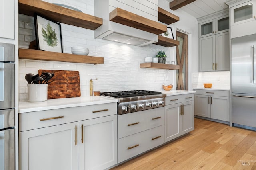
[(198, 19), (199, 71), (229, 70), (228, 10)]

